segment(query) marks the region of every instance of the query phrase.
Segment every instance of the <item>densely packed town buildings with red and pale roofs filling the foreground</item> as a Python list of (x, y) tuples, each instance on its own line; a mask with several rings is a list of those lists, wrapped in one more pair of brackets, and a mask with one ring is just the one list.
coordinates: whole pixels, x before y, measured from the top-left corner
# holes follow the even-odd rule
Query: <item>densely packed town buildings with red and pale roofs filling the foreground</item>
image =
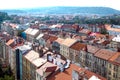
[[(120, 79), (119, 30), (111, 25), (36, 22), (18, 37), (19, 26), (4, 22), (0, 32), (2, 64), (16, 79)], [(109, 34), (101, 34), (103, 29)]]

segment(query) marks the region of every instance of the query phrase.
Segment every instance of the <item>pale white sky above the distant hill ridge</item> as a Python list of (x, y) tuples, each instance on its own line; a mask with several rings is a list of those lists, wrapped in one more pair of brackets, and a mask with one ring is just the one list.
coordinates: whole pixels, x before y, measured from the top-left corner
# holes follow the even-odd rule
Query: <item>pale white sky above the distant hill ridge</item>
[(23, 9), (52, 6), (98, 6), (120, 10), (120, 0), (0, 0), (0, 9)]

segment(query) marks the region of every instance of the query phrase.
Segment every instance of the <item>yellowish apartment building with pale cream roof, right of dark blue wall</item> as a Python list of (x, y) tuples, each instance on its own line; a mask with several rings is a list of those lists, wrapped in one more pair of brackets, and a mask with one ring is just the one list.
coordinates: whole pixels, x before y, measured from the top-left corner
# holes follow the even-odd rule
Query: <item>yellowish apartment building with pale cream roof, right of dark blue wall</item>
[(23, 55), (23, 80), (35, 80), (36, 79), (36, 69), (45, 64), (47, 59), (40, 58), (39, 53), (34, 50), (29, 51)]

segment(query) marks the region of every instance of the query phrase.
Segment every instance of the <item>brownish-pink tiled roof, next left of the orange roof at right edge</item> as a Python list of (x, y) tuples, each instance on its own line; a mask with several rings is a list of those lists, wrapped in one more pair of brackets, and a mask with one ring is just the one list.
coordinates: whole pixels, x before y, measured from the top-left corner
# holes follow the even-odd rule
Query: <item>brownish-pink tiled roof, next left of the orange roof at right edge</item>
[(99, 51), (97, 51), (97, 53), (95, 54), (96, 57), (104, 59), (104, 60), (108, 60), (109, 58), (111, 58), (113, 55), (115, 55), (115, 52), (110, 51), (110, 50), (106, 50), (106, 49), (100, 49)]

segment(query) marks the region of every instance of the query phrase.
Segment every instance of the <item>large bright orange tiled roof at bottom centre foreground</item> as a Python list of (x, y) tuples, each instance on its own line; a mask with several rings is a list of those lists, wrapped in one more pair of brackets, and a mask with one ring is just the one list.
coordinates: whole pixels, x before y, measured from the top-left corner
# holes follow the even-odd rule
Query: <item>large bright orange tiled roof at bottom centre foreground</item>
[(90, 77), (92, 77), (93, 75), (97, 76), (98, 78), (100, 78), (101, 80), (107, 80), (93, 72), (90, 72), (88, 70), (85, 70), (84, 68), (80, 68), (79, 66), (75, 65), (75, 64), (71, 64), (70, 67), (68, 69), (66, 69), (64, 72), (57, 72), (54, 73), (53, 75), (51, 75), (50, 77), (48, 77), (47, 80), (72, 80), (72, 71), (75, 70), (77, 72), (84, 72), (85, 76), (89, 79)]

